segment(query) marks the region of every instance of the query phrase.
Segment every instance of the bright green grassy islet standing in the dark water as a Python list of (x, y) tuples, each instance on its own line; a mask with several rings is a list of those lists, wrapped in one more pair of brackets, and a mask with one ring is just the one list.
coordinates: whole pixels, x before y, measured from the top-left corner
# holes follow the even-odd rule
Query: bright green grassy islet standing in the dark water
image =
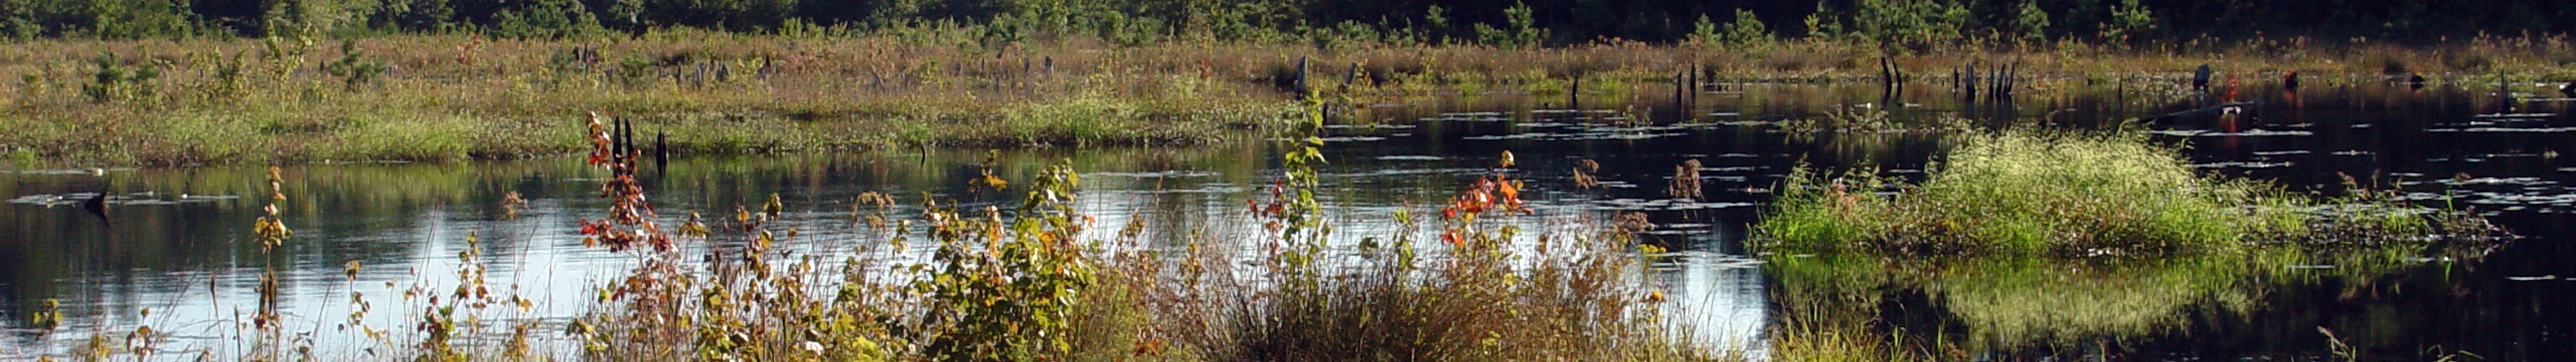
[[(2133, 134), (1976, 134), (1927, 172), (1906, 185), (1798, 169), (1757, 228), (1788, 249), (2159, 254), (2336, 226), (2311, 223), (2316, 211), (2336, 208), (2262, 182), (2202, 177), (2174, 149)], [(1883, 185), (1899, 193), (1875, 195)]]

